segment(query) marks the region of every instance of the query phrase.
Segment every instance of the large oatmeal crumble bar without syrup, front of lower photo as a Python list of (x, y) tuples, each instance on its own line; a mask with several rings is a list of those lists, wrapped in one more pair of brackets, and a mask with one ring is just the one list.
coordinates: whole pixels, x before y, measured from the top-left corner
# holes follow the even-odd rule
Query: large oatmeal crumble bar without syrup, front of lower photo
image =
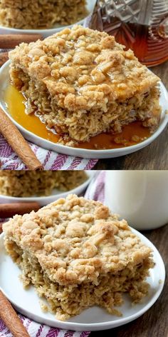
[(69, 195), (4, 223), (7, 253), (56, 318), (98, 305), (120, 315), (123, 293), (134, 303), (147, 295), (152, 251), (109, 208)]

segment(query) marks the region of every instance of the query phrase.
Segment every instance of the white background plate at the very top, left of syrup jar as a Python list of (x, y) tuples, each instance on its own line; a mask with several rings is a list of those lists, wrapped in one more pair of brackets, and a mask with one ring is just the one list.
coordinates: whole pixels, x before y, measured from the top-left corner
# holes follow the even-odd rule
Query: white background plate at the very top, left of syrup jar
[[(86, 7), (88, 9), (88, 15), (90, 15), (93, 12), (93, 9), (95, 7), (95, 1), (96, 0), (86, 0)], [(80, 20), (76, 22), (76, 24), (83, 24), (85, 21), (85, 18), (83, 20)], [(56, 24), (53, 26), (52, 29), (15, 29), (15, 28), (9, 28), (5, 26), (0, 26), (0, 34), (41, 34), (43, 37), (50, 36), (52, 34), (55, 34), (57, 31), (61, 31), (61, 29), (64, 28), (70, 28), (73, 24), (68, 26), (61, 26)]]

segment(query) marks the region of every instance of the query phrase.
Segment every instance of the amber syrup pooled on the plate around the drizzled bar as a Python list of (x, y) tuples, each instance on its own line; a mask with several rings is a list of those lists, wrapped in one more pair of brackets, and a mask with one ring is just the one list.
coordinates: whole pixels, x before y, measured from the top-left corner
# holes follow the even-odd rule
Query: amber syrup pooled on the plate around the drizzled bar
[[(6, 88), (4, 101), (13, 119), (23, 126), (24, 129), (53, 143), (58, 142), (59, 136), (46, 129), (45, 124), (37, 116), (25, 114), (26, 99), (11, 84)], [(76, 147), (94, 150), (119, 149), (140, 143), (149, 138), (150, 135), (148, 128), (142, 126), (140, 121), (135, 121), (125, 126), (120, 134), (100, 134), (92, 137), (89, 142), (80, 143)]]

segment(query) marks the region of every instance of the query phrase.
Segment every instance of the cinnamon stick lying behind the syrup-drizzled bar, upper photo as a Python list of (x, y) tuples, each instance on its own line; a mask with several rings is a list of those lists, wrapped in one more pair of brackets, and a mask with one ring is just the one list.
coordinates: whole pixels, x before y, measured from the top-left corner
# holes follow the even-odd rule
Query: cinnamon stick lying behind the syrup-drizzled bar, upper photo
[(41, 34), (0, 34), (0, 49), (12, 49), (25, 42), (37, 41), (43, 39)]

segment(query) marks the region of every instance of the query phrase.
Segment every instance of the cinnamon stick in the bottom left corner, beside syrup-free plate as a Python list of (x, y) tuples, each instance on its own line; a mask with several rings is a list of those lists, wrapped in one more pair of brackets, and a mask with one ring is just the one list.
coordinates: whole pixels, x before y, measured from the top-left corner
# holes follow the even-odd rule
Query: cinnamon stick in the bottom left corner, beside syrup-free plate
[(30, 337), (26, 328), (16, 314), (16, 311), (0, 291), (0, 317), (14, 337)]

